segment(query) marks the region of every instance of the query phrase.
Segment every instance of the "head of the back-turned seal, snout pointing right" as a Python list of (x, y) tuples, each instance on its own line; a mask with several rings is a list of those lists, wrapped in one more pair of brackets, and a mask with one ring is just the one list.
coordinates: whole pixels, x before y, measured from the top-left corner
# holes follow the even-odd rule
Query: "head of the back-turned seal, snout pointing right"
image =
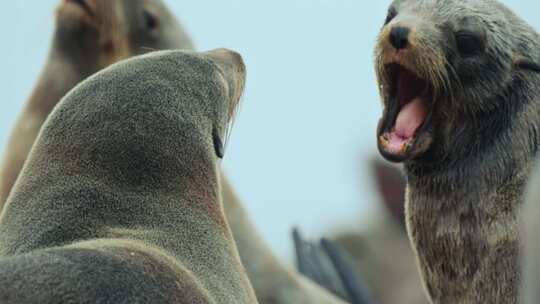
[(68, 171), (88, 172), (92, 164), (100, 179), (148, 189), (178, 187), (186, 176), (208, 181), (223, 157), (245, 75), (241, 56), (225, 49), (121, 61), (62, 99), (33, 154), (50, 163), (58, 158)]

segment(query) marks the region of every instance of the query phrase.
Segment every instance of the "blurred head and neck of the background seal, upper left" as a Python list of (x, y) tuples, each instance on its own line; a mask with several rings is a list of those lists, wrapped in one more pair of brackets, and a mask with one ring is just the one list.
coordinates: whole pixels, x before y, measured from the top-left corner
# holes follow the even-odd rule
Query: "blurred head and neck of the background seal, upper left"
[(10, 135), (0, 167), (0, 210), (37, 134), (70, 89), (111, 63), (156, 49), (191, 49), (161, 0), (62, 0), (47, 63)]

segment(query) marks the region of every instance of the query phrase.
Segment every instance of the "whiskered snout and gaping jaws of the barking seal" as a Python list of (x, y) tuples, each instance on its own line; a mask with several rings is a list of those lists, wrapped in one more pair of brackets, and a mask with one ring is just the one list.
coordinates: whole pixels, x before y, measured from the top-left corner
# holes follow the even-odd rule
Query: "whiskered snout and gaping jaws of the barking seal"
[(439, 28), (426, 25), (422, 18), (391, 7), (375, 48), (384, 106), (378, 148), (394, 162), (419, 159), (428, 152), (438, 123), (433, 118), (438, 117), (436, 101), (450, 95), (444, 50), (427, 38), (439, 34)]

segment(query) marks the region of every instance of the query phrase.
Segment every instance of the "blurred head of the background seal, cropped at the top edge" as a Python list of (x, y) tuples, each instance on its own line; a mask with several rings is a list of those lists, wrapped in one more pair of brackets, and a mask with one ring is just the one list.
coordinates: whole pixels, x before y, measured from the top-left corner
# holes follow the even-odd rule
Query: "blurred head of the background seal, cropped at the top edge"
[(92, 72), (149, 51), (193, 48), (161, 0), (62, 0), (55, 42), (63, 56)]

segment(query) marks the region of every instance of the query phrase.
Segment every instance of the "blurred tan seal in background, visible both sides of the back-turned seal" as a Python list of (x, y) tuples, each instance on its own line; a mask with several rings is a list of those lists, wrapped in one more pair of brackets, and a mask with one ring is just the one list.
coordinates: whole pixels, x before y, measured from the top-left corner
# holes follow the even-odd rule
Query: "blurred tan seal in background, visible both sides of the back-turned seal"
[[(59, 6), (56, 23), (49, 61), (13, 130), (0, 170), (0, 208), (45, 118), (67, 91), (89, 74), (117, 60), (153, 49), (193, 49), (191, 39), (181, 25), (164, 4), (156, 0), (64, 1)], [(101, 26), (96, 27), (98, 24)], [(92, 33), (87, 32), (87, 27)], [(110, 33), (111, 28), (115, 29), (114, 33)], [(100, 38), (101, 33), (104, 36)], [(81, 41), (85, 41), (85, 48), (78, 47)], [(89, 61), (87, 58), (96, 59)], [(66, 74), (65, 70), (72, 73)], [(51, 87), (55, 90), (50, 90)], [(256, 232), (232, 185), (223, 174), (221, 178), (226, 215), (259, 301), (343, 303), (278, 261)]]

